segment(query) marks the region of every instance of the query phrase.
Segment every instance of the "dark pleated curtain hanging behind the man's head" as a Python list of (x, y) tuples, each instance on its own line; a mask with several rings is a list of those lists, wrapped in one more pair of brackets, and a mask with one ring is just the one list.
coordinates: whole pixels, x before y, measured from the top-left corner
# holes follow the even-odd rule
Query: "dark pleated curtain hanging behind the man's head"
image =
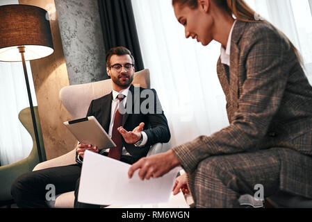
[(144, 69), (131, 0), (98, 0), (105, 51), (124, 46), (133, 53), (136, 71)]

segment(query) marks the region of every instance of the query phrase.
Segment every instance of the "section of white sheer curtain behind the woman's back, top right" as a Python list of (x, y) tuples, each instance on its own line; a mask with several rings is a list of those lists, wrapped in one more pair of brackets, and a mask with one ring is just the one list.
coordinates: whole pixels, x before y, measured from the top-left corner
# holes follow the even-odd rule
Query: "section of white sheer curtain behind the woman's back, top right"
[(306, 75), (312, 84), (312, 1), (246, 0), (262, 17), (279, 28), (301, 53)]

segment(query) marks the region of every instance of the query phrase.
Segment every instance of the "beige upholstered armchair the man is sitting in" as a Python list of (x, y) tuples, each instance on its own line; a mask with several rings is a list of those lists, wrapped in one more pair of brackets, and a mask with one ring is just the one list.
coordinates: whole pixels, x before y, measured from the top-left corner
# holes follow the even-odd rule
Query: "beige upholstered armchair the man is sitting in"
[[(149, 70), (144, 69), (136, 72), (133, 78), (133, 85), (140, 84), (140, 87), (149, 88)], [(63, 103), (67, 111), (72, 114), (73, 119), (79, 119), (85, 117), (88, 112), (88, 107), (92, 99), (97, 99), (110, 93), (112, 90), (111, 80), (101, 80), (95, 83), (86, 83), (81, 85), (70, 85), (60, 90), (60, 101)], [(78, 143), (78, 142), (77, 142)], [(56, 157), (52, 160), (42, 162), (35, 166), (33, 171), (39, 169), (46, 169), (49, 167), (66, 166), (69, 164), (75, 164), (75, 149)], [(162, 153), (167, 151), (165, 144), (155, 144), (151, 146), (147, 155), (153, 155), (155, 153)], [(74, 207), (74, 191), (59, 194), (56, 196), (56, 200), (47, 201), (49, 207), (61, 207), (72, 208)]]

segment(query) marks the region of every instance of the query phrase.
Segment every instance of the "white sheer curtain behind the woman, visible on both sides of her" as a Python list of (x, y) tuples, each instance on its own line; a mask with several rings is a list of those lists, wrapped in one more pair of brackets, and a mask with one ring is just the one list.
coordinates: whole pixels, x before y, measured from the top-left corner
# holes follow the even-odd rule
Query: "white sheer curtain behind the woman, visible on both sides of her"
[[(302, 49), (306, 66), (310, 64), (311, 13), (302, 5), (309, 6), (308, 0), (247, 3), (284, 31)], [(186, 40), (171, 0), (132, 0), (132, 4), (143, 60), (151, 71), (151, 87), (157, 90), (170, 124), (170, 146), (228, 126), (224, 94), (216, 74), (220, 44), (212, 42), (203, 47), (196, 40)], [(311, 74), (310, 69), (310, 80)]]

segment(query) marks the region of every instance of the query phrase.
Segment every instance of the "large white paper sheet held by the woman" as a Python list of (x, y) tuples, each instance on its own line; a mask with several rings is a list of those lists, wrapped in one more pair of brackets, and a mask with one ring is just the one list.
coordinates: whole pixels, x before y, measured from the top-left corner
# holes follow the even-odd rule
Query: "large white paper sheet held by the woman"
[(140, 180), (137, 170), (128, 178), (130, 164), (85, 151), (78, 201), (97, 205), (167, 203), (179, 168), (161, 178)]

